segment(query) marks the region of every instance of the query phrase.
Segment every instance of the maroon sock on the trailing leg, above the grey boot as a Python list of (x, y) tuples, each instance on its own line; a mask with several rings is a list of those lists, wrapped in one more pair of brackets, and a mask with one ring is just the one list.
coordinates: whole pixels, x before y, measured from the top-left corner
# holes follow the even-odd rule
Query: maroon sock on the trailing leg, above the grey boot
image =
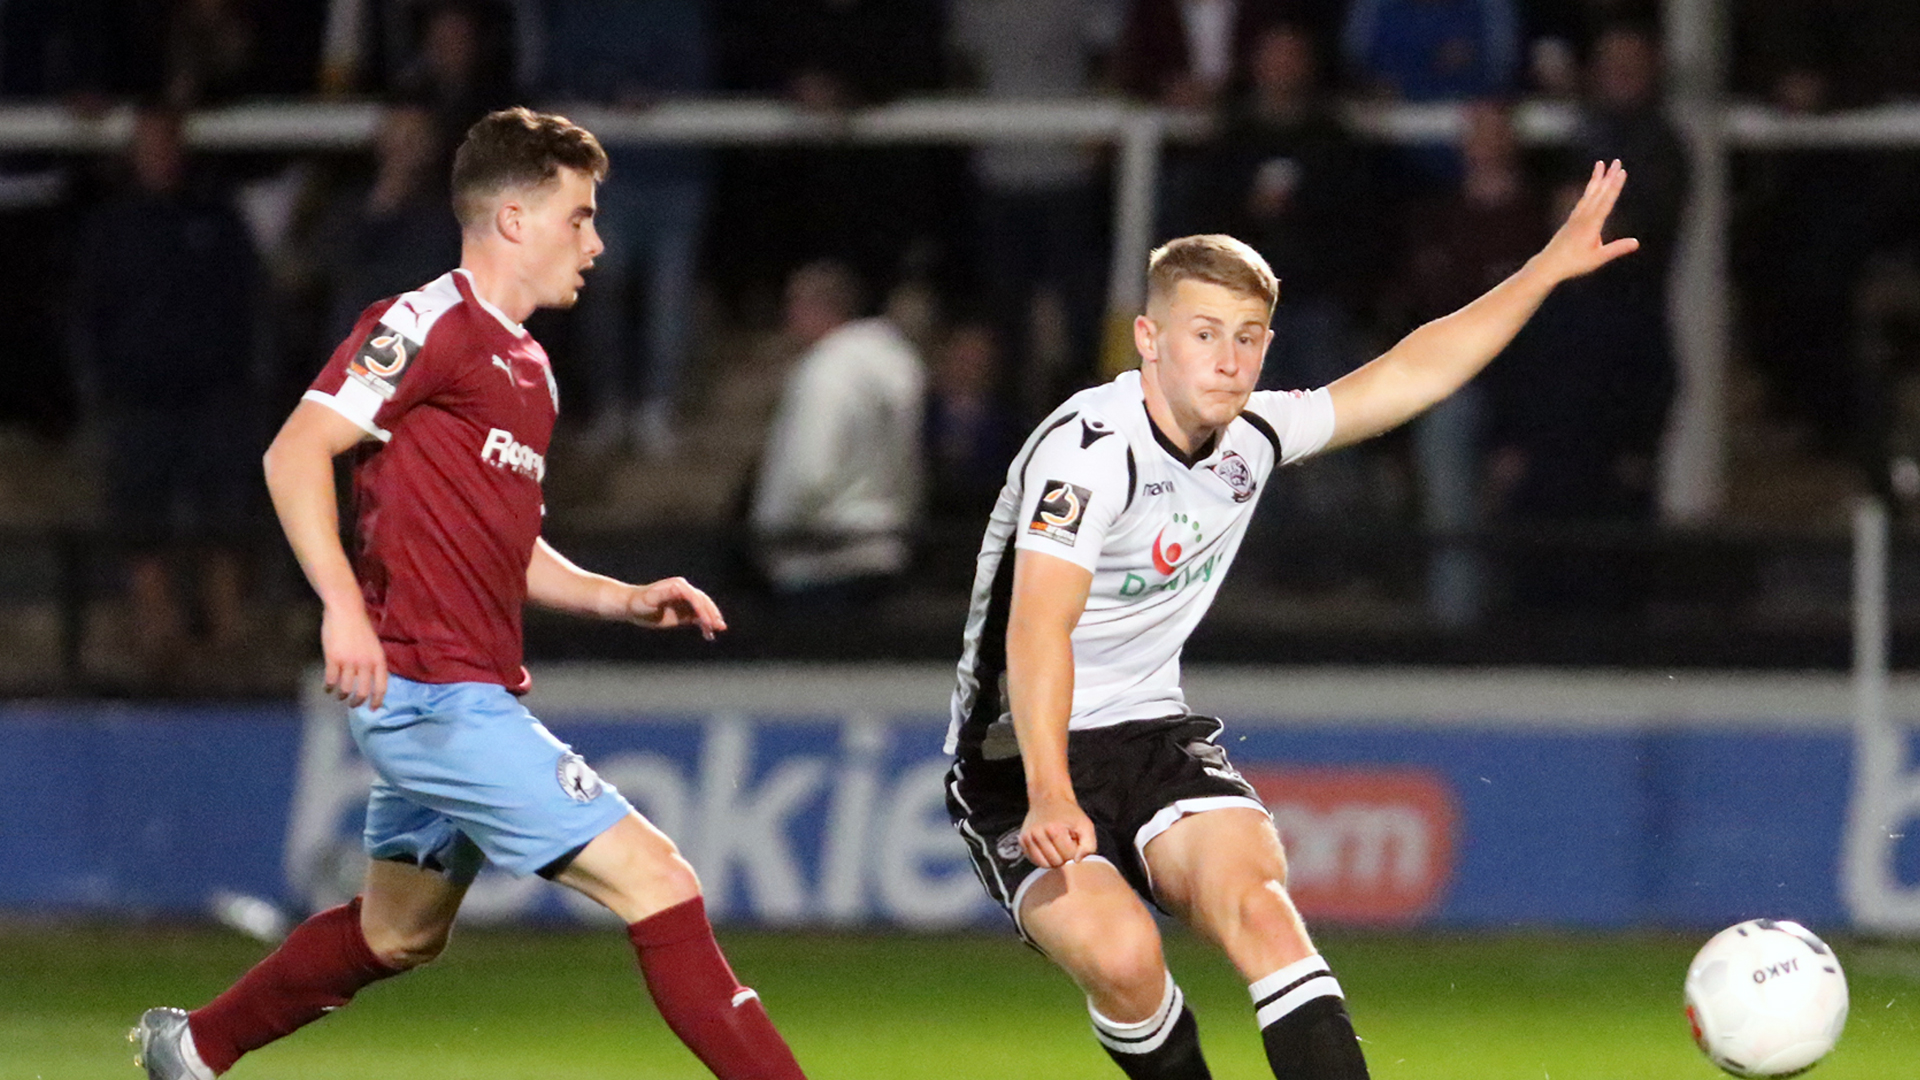
[(240, 982), (188, 1013), (200, 1059), (227, 1072), (250, 1049), (294, 1032), (346, 1005), (369, 982), (399, 974), (367, 947), (359, 897), (307, 919)]

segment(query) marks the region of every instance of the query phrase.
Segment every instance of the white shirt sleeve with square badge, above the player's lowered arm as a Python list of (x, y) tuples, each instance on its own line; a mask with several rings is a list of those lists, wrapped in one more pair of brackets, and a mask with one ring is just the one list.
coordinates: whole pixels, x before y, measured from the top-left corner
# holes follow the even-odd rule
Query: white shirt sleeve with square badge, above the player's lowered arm
[(1127, 440), (1085, 442), (1071, 419), (1033, 448), (1021, 471), (1014, 548), (1041, 552), (1092, 571), (1108, 528), (1127, 507)]

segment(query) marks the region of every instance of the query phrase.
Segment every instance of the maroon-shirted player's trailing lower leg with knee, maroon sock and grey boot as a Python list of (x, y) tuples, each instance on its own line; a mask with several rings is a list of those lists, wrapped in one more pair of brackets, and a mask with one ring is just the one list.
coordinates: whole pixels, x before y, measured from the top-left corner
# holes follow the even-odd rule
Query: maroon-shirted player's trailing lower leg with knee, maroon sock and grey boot
[[(372, 861), (361, 896), (313, 915), (225, 994), (192, 1013), (152, 1009), (134, 1028), (154, 1080), (204, 1080), (447, 945), (467, 884)], [(163, 1045), (157, 1045), (163, 1042)]]

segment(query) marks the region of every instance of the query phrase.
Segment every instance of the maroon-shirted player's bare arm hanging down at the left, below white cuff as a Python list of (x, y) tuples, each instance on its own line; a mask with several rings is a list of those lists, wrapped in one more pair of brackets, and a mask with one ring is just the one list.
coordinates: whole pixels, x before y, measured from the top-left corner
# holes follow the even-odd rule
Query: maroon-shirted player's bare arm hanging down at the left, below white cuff
[(340, 546), (340, 505), (334, 496), (334, 457), (367, 438), (344, 415), (301, 402), (267, 448), (267, 492), (280, 530), (300, 559), (307, 584), (321, 596), (321, 655), (326, 692), (349, 705), (380, 707), (386, 700), (386, 653), (367, 619), (353, 565)]

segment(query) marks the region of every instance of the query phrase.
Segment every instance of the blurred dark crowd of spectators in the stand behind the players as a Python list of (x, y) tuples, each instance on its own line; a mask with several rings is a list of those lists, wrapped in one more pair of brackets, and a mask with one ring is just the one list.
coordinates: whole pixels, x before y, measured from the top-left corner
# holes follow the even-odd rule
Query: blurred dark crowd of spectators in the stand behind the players
[[(1738, 96), (1818, 113), (1920, 94), (1912, 0), (1728, 4)], [(1615, 229), (1642, 254), (1557, 294), (1409, 432), (1286, 477), (1269, 519), (1649, 521), (1690, 190), (1661, 15), (1653, 0), (0, 0), (0, 98), (140, 106), (125, 156), (0, 156), (0, 354), (15, 357), (0, 423), (96, 450), (163, 663), (196, 634), (244, 634), (238, 538), (271, 527), (253, 450), (363, 306), (457, 261), (447, 163), (484, 111), (1112, 94), (1212, 117), (1165, 154), (1156, 238), (1227, 231), (1269, 258), (1267, 386), (1332, 380), (1471, 300), (1538, 250), (1594, 160), (1624, 160)], [(338, 96), (384, 102), (371, 152), (182, 150), (192, 110)], [(1513, 104), (1532, 96), (1576, 108), (1571, 146), (1523, 146)], [(1467, 123), (1444, 144), (1367, 142), (1336, 110), (1356, 98), (1461, 102)], [(868, 596), (918, 532), (964, 534), (1029, 425), (1112, 371), (1102, 148), (611, 156), (607, 254), (576, 311), (534, 325), (561, 434), (588, 459), (684, 461), (703, 365), (764, 359), (780, 384), (764, 429), (733, 432), (764, 452), (730, 505), (780, 596)], [(1736, 173), (1741, 350), (1772, 415), (1834, 452), (1880, 407), (1860, 294), (1912, 246), (1910, 200), (1885, 196), (1908, 171), (1901, 154), (1791, 152)], [(192, 582), (182, 546), (202, 555)], [(1565, 571), (1513, 588), (1620, 594)], [(1442, 546), (1432, 613), (1476, 619), (1484, 573)]]

